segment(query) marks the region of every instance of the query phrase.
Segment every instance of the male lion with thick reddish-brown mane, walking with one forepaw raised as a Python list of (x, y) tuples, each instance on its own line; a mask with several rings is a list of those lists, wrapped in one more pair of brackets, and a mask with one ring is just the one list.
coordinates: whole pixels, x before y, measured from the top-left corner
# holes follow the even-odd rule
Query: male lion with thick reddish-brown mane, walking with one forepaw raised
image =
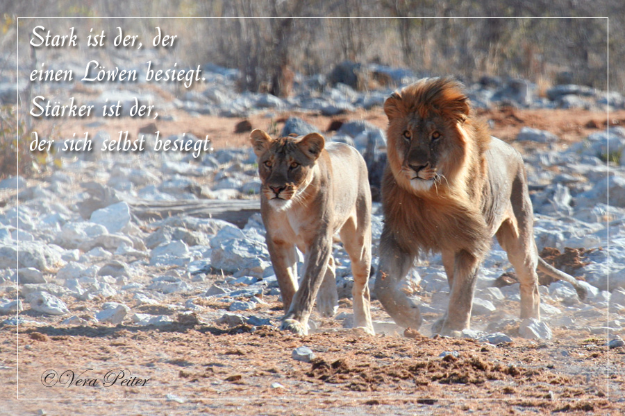
[[(462, 85), (426, 78), (392, 94), (388, 163), (382, 183), (385, 223), (375, 290), (397, 324), (417, 329), (417, 305), (397, 283), (419, 252), (441, 252), (451, 289), (433, 332), (469, 328), (478, 267), (492, 236), (520, 281), (521, 318), (539, 319), (536, 267), (576, 284), (538, 257), (523, 159), (474, 119)], [(582, 293), (578, 287), (578, 293)]]

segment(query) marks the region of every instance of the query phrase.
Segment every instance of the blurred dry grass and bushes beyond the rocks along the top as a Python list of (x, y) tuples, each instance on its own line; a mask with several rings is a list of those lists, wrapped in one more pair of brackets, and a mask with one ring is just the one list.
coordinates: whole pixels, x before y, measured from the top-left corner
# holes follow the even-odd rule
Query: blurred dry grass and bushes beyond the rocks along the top
[[(619, 64), (625, 55), (623, 0), (0, 0), (0, 3), (3, 12), (0, 80), (5, 81), (15, 78), (15, 73), (11, 75), (8, 69), (15, 69), (17, 60), (16, 17), (19, 16), (41, 17), (40, 24), (46, 28), (63, 28), (60, 33), (66, 33), (70, 26), (75, 26), (78, 33), (85, 33), (88, 32), (85, 28), (97, 24), (109, 34), (117, 26), (130, 26), (134, 34), (151, 37), (154, 26), (161, 26), (184, 40), (184, 46), (175, 52), (184, 61), (181, 63), (210, 62), (240, 69), (240, 89), (278, 96), (288, 95), (288, 83), (294, 72), (327, 75), (335, 64), (344, 60), (403, 67), (423, 76), (454, 75), (467, 81), (481, 76), (519, 77), (536, 83), (539, 90), (562, 83), (606, 89), (609, 73), (610, 89), (625, 90), (625, 69)], [(68, 21), (46, 17), (92, 19)], [(128, 24), (122, 17), (146, 18)], [(164, 21), (156, 17), (226, 19)], [(608, 20), (592, 17), (610, 18), (609, 41)], [(28, 50), (32, 21), (26, 24), (20, 19), (19, 24), (24, 26), (19, 28), (22, 38), (19, 56), (20, 61), (25, 57), (20, 62), (20, 70), (24, 65), (22, 79), (25, 79), (32, 60), (29, 58), (32, 51)], [(608, 50), (612, 57), (609, 69)], [(113, 52), (108, 49), (106, 53)], [(11, 129), (5, 116), (14, 110), (0, 110), (3, 120), (0, 155), (8, 151), (15, 155), (17, 151), (10, 147), (18, 146), (13, 140), (16, 136), (11, 139), (11, 135), (3, 133)], [(19, 126), (23, 134), (28, 133), (27, 120), (25, 124), (14, 124), (13, 128)]]

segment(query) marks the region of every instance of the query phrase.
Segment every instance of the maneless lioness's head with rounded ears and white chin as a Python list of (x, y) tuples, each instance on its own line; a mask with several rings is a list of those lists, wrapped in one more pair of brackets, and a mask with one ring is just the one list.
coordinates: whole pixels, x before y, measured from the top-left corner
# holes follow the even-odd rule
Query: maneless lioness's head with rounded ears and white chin
[(262, 130), (250, 134), (258, 158), (260, 192), (274, 209), (288, 209), (310, 183), (313, 168), (324, 148), (324, 137), (311, 133), (305, 137), (272, 139)]

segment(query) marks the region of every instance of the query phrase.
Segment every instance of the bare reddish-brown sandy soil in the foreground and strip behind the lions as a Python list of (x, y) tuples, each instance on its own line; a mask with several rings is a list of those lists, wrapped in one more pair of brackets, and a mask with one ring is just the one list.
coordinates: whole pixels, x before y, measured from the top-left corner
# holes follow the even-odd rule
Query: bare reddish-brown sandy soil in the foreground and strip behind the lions
[[(564, 141), (578, 141), (608, 123), (606, 114), (583, 110), (502, 109), (481, 113), (492, 120), (494, 135), (506, 141), (512, 141), (524, 125), (549, 130)], [(278, 121), (279, 128), (279, 121), (286, 116), (276, 114), (272, 119), (258, 115), (249, 121), (254, 128), (265, 129)], [(333, 120), (299, 116), (324, 131)], [(386, 123), (380, 109), (334, 119), (366, 119), (381, 127)], [(157, 124), (163, 134), (190, 131), (199, 137), (210, 135), (215, 148), (224, 148), (247, 146), (247, 134), (234, 133), (239, 121), (177, 114), (175, 121)], [(94, 131), (80, 120), (72, 123), (54, 129), (69, 136)], [(610, 115), (611, 125), (623, 123), (625, 112)], [(145, 124), (123, 120), (123, 125), (106, 125), (106, 130), (117, 135), (122, 129), (136, 132)], [(4, 402), (0, 414), (625, 413), (625, 349), (608, 352), (605, 333), (552, 328), (553, 340), (547, 343), (514, 338), (512, 343), (494, 346), (475, 340), (426, 338), (418, 333), (367, 336), (342, 329), (336, 320), (313, 316), (324, 331), (299, 338), (271, 327), (219, 326), (206, 316), (217, 314), (223, 305), (202, 300), (201, 293), (168, 295), (168, 302), (173, 303), (194, 299), (207, 312), (178, 317), (163, 327), (67, 327), (59, 324), (60, 317), (24, 311), (28, 320), (43, 325), (21, 325), (19, 335), (15, 327), (0, 328), (0, 374), (6, 386), (0, 389)], [(69, 309), (72, 314), (90, 318), (102, 302), (105, 300), (74, 301)], [(126, 302), (133, 304), (131, 294)], [(277, 322), (282, 314), (277, 297), (267, 296), (265, 302), (253, 314)], [(339, 312), (350, 311), (351, 302), (341, 300)], [(176, 316), (168, 305), (142, 312)], [(387, 319), (378, 302), (373, 304), (373, 313), (374, 319)], [(292, 358), (292, 350), (302, 345), (315, 352), (312, 362)], [(443, 352), (457, 352), (458, 356), (442, 358)], [(44, 387), (46, 370), (58, 374), (72, 370), (76, 378), (72, 385), (63, 384), (67, 373), (56, 385)], [(123, 379), (106, 386), (107, 374), (110, 382), (110, 377), (121, 370)], [(77, 379), (97, 385), (77, 385)], [(138, 379), (148, 381), (141, 385)], [(126, 385), (131, 381), (134, 383)], [(16, 400), (16, 395), (28, 400)]]

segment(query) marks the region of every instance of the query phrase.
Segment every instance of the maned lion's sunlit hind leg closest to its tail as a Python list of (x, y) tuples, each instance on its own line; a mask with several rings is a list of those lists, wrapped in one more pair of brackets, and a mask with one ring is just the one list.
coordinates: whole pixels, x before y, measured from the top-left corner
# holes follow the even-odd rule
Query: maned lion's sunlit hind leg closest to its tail
[(528, 230), (523, 223), (519, 232), (510, 220), (501, 224), (497, 231), (499, 245), (508, 253), (508, 260), (517, 272), (521, 286), (521, 318), (540, 319), (540, 295), (538, 293), (538, 275), (536, 266), (538, 254), (534, 243), (533, 230)]

